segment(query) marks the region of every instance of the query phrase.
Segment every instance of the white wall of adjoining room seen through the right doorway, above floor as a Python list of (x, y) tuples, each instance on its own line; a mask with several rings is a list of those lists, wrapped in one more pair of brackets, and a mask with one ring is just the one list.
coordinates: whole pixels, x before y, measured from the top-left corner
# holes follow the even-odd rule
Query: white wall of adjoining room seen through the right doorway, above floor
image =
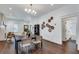
[(76, 17), (67, 17), (62, 19), (62, 41), (75, 40), (76, 41)]

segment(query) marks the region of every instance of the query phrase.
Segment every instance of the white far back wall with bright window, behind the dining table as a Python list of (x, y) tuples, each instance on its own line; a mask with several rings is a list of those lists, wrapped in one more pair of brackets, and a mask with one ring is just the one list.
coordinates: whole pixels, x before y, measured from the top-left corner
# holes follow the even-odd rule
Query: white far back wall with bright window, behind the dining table
[[(31, 20), (33, 20), (32, 23)], [(6, 32), (16, 32), (18, 34), (21, 34), (24, 31), (24, 25), (31, 25), (33, 28), (34, 20), (35, 19), (34, 18), (31, 19), (31, 17), (25, 19), (5, 17), (5, 24), (7, 25)], [(18, 27), (17, 30), (15, 30), (16, 27)], [(31, 32), (34, 33), (34, 30), (32, 28), (31, 28)]]

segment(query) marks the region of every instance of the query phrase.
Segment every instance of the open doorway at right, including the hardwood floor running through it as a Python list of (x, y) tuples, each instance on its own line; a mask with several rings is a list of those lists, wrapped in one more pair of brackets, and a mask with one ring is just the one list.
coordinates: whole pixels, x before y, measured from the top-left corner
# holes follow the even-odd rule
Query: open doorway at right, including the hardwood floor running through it
[(76, 51), (76, 22), (77, 17), (66, 17), (63, 18), (63, 45), (67, 48), (70, 53), (71, 51)]

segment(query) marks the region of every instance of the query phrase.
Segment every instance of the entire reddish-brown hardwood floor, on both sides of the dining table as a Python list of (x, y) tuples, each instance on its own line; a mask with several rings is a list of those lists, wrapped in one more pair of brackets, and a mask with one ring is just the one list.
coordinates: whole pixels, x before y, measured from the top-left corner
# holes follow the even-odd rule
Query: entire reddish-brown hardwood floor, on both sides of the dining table
[[(32, 54), (78, 54), (75, 41), (63, 42), (63, 45), (43, 40), (43, 48), (36, 49)], [(0, 54), (15, 54), (14, 44), (0, 42)]]

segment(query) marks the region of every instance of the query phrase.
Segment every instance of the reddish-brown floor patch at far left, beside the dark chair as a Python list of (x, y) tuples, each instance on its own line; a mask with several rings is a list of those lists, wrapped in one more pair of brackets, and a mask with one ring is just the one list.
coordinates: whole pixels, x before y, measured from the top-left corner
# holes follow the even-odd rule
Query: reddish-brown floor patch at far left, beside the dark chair
[[(12, 43), (0, 42), (0, 54), (15, 54), (14, 45)], [(2, 47), (2, 48), (1, 48)]]

